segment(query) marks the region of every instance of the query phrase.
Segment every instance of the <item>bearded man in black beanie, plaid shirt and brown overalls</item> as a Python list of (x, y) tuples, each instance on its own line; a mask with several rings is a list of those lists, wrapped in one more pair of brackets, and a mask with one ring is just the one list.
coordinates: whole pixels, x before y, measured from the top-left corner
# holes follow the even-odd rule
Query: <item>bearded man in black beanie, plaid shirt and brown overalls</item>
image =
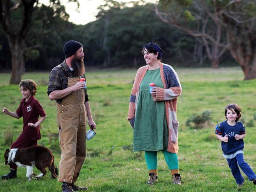
[(59, 162), (59, 182), (63, 192), (87, 190), (74, 183), (85, 159), (86, 117), (91, 130), (96, 124), (91, 115), (83, 64), (83, 45), (68, 41), (63, 47), (65, 60), (50, 73), (47, 93), (50, 100), (57, 103), (57, 124), (61, 160)]

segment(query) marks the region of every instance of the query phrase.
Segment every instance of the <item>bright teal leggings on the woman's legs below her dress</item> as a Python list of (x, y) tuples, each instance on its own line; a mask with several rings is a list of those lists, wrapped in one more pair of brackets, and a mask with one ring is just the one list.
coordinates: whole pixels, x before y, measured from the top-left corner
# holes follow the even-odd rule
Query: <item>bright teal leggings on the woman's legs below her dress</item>
[[(170, 170), (179, 168), (177, 153), (170, 153), (164, 149), (163, 155)], [(148, 170), (157, 169), (157, 151), (145, 151), (145, 161)]]

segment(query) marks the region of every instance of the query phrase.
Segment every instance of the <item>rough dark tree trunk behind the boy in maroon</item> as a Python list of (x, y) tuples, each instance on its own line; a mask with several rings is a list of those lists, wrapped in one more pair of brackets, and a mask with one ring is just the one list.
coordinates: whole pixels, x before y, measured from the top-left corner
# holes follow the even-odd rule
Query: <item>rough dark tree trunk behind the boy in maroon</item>
[(25, 62), (24, 62), (24, 41), (15, 38), (9, 39), (9, 47), (11, 50), (11, 79), (10, 84), (19, 84), (21, 80), (21, 75), (25, 71)]

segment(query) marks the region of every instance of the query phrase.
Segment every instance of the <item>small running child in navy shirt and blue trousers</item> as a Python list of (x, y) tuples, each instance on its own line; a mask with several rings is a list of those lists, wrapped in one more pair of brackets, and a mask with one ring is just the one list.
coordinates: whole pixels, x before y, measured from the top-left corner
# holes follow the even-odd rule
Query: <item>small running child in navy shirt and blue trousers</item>
[(245, 180), (239, 167), (249, 180), (256, 185), (256, 175), (243, 158), (245, 126), (238, 121), (241, 117), (241, 111), (241, 107), (237, 104), (227, 105), (225, 109), (226, 121), (217, 124), (215, 127), (215, 135), (221, 140), (223, 157), (227, 159), (228, 166), (239, 187), (243, 186), (243, 181)]

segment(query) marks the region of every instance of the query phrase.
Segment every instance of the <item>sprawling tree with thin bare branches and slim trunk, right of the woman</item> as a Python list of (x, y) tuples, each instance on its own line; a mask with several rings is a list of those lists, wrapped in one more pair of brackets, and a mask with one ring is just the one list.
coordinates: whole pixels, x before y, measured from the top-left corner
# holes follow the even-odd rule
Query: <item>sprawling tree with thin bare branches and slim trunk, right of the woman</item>
[(217, 10), (211, 8), (208, 1), (160, 0), (155, 11), (163, 22), (195, 37), (203, 44), (211, 66), (219, 67), (219, 59), (226, 51), (226, 41), (222, 38), (223, 27), (217, 22)]

